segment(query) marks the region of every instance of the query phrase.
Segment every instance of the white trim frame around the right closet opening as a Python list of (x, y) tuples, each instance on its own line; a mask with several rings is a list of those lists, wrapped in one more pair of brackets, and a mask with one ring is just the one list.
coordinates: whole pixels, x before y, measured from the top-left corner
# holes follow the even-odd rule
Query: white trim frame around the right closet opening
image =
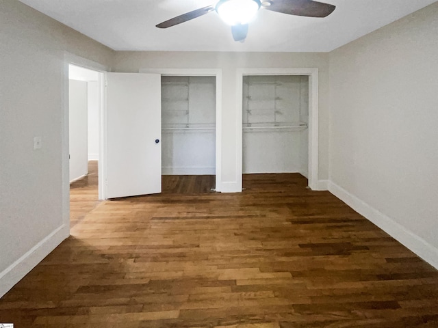
[(312, 190), (318, 188), (318, 68), (239, 68), (237, 69), (237, 152), (240, 163), (237, 164), (240, 176), (243, 173), (243, 78), (248, 75), (298, 75), (309, 77), (309, 162), (308, 184)]

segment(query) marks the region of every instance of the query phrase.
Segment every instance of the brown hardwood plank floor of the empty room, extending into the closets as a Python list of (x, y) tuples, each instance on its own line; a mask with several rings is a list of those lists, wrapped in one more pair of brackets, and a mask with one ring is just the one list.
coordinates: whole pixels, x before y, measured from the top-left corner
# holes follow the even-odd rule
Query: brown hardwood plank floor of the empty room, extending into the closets
[(0, 300), (0, 323), (438, 327), (437, 270), (299, 174), (244, 176), (235, 194), (188, 179), (92, 206)]

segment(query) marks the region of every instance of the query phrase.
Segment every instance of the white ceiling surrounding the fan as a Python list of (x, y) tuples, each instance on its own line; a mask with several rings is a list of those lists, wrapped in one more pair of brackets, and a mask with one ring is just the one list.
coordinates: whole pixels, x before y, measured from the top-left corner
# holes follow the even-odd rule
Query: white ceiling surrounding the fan
[(326, 52), (437, 0), (320, 0), (336, 5), (326, 18), (259, 10), (244, 43), (216, 12), (168, 29), (155, 25), (215, 0), (21, 0), (114, 50)]

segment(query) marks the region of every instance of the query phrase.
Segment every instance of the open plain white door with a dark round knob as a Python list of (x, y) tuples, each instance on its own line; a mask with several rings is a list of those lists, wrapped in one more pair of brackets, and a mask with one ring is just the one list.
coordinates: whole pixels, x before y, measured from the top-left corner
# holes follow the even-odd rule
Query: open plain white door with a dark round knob
[(107, 73), (107, 197), (161, 193), (161, 76)]

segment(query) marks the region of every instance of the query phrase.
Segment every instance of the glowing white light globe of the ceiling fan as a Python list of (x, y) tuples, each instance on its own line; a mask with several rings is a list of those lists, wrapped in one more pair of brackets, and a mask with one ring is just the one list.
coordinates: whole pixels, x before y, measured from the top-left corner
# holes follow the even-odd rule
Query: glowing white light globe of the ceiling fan
[(216, 12), (228, 25), (248, 24), (260, 9), (260, 0), (220, 0)]

